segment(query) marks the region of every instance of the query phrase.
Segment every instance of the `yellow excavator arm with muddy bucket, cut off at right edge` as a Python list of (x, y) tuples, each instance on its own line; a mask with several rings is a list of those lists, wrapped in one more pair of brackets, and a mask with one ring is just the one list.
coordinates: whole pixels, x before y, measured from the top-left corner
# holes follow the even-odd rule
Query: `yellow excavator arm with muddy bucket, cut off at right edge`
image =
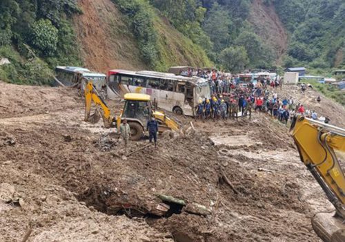
[(345, 176), (337, 157), (344, 158), (345, 129), (295, 115), (290, 134), (302, 162), (335, 207), (335, 212), (315, 214), (313, 229), (323, 241), (344, 242)]

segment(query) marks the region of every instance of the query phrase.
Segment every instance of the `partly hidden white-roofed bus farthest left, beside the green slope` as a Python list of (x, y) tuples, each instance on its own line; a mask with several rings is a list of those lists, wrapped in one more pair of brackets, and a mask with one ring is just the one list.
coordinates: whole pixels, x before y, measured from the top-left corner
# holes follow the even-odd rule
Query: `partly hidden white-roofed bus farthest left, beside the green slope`
[(92, 80), (97, 90), (101, 90), (106, 86), (106, 75), (102, 73), (95, 73), (87, 68), (77, 66), (57, 66), (55, 68), (57, 80), (62, 82), (65, 86), (81, 85), (83, 90), (88, 80)]

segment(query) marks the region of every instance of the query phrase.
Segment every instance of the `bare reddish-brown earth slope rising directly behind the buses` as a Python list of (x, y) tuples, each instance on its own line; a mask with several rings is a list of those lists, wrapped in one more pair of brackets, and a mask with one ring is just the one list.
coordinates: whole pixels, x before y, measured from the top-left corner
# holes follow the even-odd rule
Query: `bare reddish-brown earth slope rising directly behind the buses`
[(79, 0), (83, 14), (75, 27), (84, 63), (106, 73), (110, 68), (146, 69), (126, 19), (110, 0)]

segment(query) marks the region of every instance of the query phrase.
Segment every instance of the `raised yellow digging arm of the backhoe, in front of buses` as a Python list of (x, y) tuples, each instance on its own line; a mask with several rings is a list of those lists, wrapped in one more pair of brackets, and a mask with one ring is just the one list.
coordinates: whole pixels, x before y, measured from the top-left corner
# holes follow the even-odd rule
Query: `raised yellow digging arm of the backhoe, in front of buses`
[(106, 102), (104, 102), (102, 100), (102, 98), (99, 96), (99, 94), (97, 93), (97, 90), (95, 89), (95, 87), (92, 85), (92, 82), (88, 82), (88, 84), (86, 84), (86, 88), (84, 90), (85, 92), (85, 121), (86, 122), (98, 122), (97, 117), (95, 118), (95, 116), (93, 118), (91, 118), (90, 116), (90, 111), (91, 111), (91, 104), (92, 102), (95, 102), (95, 104), (97, 105), (97, 110), (95, 112), (94, 115), (98, 115), (99, 113), (99, 108), (101, 109), (101, 117), (103, 118), (103, 122), (104, 122), (104, 127), (106, 128), (110, 128), (112, 121), (113, 121), (113, 117), (110, 115), (110, 109), (108, 108), (108, 106), (106, 105)]

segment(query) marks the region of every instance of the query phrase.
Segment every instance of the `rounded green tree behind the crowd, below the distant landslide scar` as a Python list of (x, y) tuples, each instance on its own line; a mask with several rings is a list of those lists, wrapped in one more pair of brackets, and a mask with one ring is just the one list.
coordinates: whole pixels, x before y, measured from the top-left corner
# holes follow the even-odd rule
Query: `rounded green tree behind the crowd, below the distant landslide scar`
[(249, 58), (244, 46), (229, 47), (222, 50), (219, 59), (224, 68), (233, 73), (244, 71), (249, 64)]

